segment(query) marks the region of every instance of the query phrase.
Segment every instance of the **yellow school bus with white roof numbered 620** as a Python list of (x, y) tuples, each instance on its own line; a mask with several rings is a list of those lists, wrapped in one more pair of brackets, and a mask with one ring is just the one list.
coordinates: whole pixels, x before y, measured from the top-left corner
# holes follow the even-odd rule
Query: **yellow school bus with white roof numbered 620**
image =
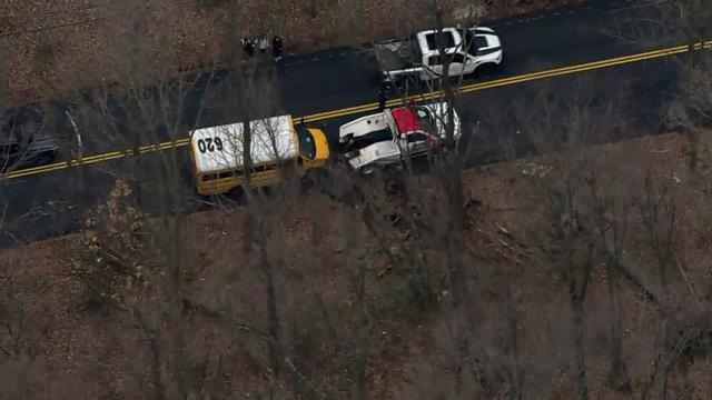
[[(329, 158), (324, 131), (295, 128), (291, 116), (250, 121), (249, 127), (253, 189), (281, 181), (285, 167), (295, 166), (297, 171), (305, 172), (324, 167)], [(190, 156), (199, 194), (220, 194), (244, 183), (243, 132), (241, 122), (190, 132)]]

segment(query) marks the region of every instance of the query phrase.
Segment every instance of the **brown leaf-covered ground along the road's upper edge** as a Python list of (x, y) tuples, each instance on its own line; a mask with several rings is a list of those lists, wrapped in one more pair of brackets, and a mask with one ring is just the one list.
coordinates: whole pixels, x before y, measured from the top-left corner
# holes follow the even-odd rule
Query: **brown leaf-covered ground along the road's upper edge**
[[(487, 19), (581, 0), (490, 1)], [(446, 16), (458, 7), (443, 2)], [(7, 104), (59, 97), (128, 71), (178, 70), (224, 62), (243, 37), (270, 32), (286, 52), (360, 44), (431, 24), (404, 1), (90, 0), (6, 1), (0, 7), (0, 90)], [(418, 21), (418, 22), (413, 22)], [(237, 49), (237, 50), (236, 50)], [(7, 106), (6, 104), (6, 106)]]

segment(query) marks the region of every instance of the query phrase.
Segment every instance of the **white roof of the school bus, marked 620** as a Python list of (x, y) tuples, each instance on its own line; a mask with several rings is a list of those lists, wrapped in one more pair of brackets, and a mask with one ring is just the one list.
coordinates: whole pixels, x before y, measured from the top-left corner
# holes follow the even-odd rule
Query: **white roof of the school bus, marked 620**
[[(297, 144), (290, 116), (249, 122), (253, 164), (295, 159)], [(243, 130), (239, 123), (196, 129), (190, 138), (195, 167), (199, 173), (243, 168)]]

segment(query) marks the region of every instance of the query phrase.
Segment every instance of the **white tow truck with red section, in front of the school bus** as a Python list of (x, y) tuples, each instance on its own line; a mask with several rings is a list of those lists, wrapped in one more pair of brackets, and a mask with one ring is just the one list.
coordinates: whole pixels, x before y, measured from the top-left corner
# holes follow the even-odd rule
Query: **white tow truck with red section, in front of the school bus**
[[(407, 158), (438, 151), (445, 143), (447, 104), (444, 102), (385, 109), (339, 128), (346, 162), (370, 174), (376, 169), (399, 166)], [(453, 139), (459, 141), (461, 123), (453, 110)]]

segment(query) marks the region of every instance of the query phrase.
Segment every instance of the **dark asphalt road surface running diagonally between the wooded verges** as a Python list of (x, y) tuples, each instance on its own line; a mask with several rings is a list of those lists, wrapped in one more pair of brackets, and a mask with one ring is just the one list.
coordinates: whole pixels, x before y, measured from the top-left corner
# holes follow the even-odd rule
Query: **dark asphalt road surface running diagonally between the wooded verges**
[[(544, 14), (492, 21), (487, 26), (501, 36), (505, 60), (494, 76), (483, 80), (680, 44), (670, 38), (631, 40), (634, 21), (643, 21), (652, 12), (646, 3), (592, 1)], [(622, 27), (627, 32), (624, 38), (620, 36)], [(655, 132), (662, 122), (666, 99), (674, 96), (675, 71), (672, 58), (660, 58), (463, 94), (457, 109), (464, 123), (465, 143), (469, 144), (464, 150), (466, 163), (476, 166), (541, 151), (542, 142), (571, 136), (571, 130), (562, 129), (556, 116), (572, 109), (585, 110), (592, 121), (615, 118)], [(288, 58), (276, 68), (275, 74), (279, 101), (267, 107), (274, 109), (270, 112), (305, 116), (377, 100), (378, 74), (373, 54), (367, 50), (334, 49)], [(233, 86), (226, 84), (229, 72), (221, 71), (218, 76), (220, 79), (199, 80), (185, 97), (181, 117), (186, 124), (205, 127), (235, 120), (231, 111), (240, 96)], [(571, 100), (574, 94), (576, 101)], [(613, 111), (605, 107), (611, 101), (615, 101)], [(119, 101), (111, 107), (117, 114), (121, 113)], [(198, 109), (201, 109), (200, 118), (196, 119)], [(324, 128), (334, 140), (338, 127), (356, 117), (358, 114), (342, 116), (313, 124)], [(589, 132), (599, 132), (595, 127), (589, 128)], [(65, 134), (70, 136), (67, 131)], [(600, 142), (620, 139), (620, 134), (625, 133), (615, 137), (591, 133), (581, 139)], [(97, 138), (85, 138), (85, 154), (122, 150), (132, 143), (131, 138), (120, 136), (97, 134)], [(149, 139), (166, 140), (170, 134), (157, 132)], [(155, 209), (162, 184), (164, 156), (149, 153), (138, 161), (120, 159), (4, 182), (0, 187), (4, 216), (0, 243), (9, 246), (75, 230), (79, 210), (106, 197), (117, 176), (149, 179), (151, 183), (146, 184), (142, 198), (147, 210)], [(175, 156), (182, 166), (185, 194), (192, 199), (182, 211), (196, 210), (200, 202), (194, 196), (187, 151), (176, 150)]]

